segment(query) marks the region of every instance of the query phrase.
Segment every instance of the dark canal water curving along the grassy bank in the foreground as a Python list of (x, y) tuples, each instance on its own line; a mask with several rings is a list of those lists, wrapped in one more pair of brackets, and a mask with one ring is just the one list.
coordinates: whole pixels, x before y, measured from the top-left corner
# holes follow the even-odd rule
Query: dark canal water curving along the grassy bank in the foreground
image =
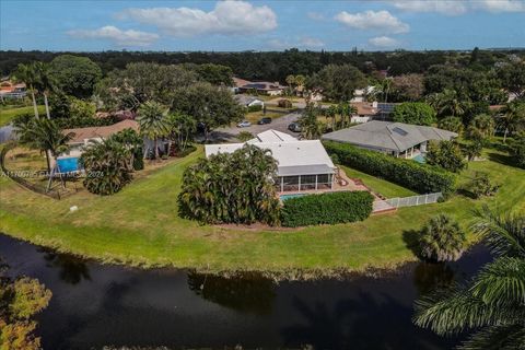
[(408, 264), (387, 276), (287, 281), (101, 265), (0, 234), (12, 276), (52, 291), (38, 335), (45, 350), (104, 346), (452, 349), (411, 323), (421, 293), (465, 280), (491, 259), (481, 246), (447, 265)]

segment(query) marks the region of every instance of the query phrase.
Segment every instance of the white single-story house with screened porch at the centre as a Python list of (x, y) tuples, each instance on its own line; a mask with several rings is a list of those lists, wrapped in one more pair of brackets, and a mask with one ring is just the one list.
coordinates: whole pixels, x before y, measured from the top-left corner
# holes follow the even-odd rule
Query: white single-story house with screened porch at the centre
[[(246, 143), (271, 151), (278, 163), (275, 182), (279, 191), (334, 188), (336, 166), (319, 140), (299, 141), (288, 133), (268, 130)], [(206, 156), (233, 153), (244, 144), (207, 144)]]

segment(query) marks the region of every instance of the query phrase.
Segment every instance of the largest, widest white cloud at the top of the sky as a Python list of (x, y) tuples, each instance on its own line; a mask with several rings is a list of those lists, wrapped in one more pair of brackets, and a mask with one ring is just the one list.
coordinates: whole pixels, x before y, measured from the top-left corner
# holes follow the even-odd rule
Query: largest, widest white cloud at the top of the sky
[(155, 25), (165, 34), (178, 37), (257, 34), (277, 28), (277, 15), (269, 7), (232, 0), (217, 2), (210, 12), (189, 8), (127, 9), (118, 18)]

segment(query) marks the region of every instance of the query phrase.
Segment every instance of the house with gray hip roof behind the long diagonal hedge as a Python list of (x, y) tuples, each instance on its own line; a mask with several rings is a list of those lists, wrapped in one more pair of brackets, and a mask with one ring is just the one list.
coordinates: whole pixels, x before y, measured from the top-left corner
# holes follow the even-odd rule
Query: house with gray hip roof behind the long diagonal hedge
[(456, 132), (394, 121), (372, 120), (323, 136), (324, 140), (351, 143), (395, 156), (412, 158), (427, 152), (429, 141), (452, 140)]

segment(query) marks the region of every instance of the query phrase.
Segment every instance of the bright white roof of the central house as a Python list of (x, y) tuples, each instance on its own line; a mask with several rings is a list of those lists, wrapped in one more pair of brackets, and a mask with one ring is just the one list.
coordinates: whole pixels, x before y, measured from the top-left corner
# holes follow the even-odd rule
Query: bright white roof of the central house
[[(334, 163), (328, 156), (328, 153), (326, 153), (326, 150), (319, 140), (299, 141), (295, 138), (283, 132), (275, 130), (269, 131), (272, 131), (273, 133), (265, 131), (262, 133), (259, 133), (257, 136), (257, 139), (259, 139), (259, 137), (264, 135), (262, 137), (260, 137), (260, 139), (282, 137), (283, 140), (279, 142), (259, 141), (252, 142), (252, 144), (271, 151), (271, 155), (277, 160), (278, 163), (278, 175), (292, 176), (334, 173)], [(285, 135), (287, 137), (283, 137), (283, 135)], [(244, 143), (207, 144), (205, 147), (206, 156), (210, 156), (217, 153), (233, 153), (234, 151), (241, 149)]]

